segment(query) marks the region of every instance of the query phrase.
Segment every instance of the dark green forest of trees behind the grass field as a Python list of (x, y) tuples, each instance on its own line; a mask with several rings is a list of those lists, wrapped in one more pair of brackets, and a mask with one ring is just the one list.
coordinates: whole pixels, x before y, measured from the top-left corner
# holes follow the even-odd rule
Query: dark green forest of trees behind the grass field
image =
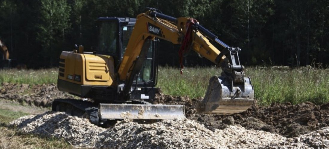
[[(136, 17), (146, 7), (195, 18), (240, 47), (246, 66), (326, 68), (329, 62), (328, 0), (0, 0), (0, 37), (20, 64), (55, 67), (74, 44), (86, 51), (96, 46), (98, 17)], [(159, 63), (179, 66), (179, 45), (160, 44)], [(194, 57), (186, 57), (188, 66), (210, 64)]]

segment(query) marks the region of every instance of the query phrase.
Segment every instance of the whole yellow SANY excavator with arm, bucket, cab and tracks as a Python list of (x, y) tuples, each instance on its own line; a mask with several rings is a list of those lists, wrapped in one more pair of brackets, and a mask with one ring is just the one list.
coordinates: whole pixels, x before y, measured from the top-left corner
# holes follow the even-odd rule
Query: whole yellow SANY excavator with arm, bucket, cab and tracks
[(109, 119), (185, 118), (183, 105), (149, 103), (157, 91), (158, 39), (181, 44), (180, 56), (193, 50), (221, 67), (221, 75), (210, 78), (204, 99), (196, 105), (198, 113), (233, 114), (252, 105), (254, 89), (244, 77), (240, 48), (229, 47), (195, 19), (148, 8), (136, 19), (98, 21), (98, 47), (85, 52), (76, 46), (63, 51), (59, 62), (58, 89), (86, 100), (55, 99), (53, 111), (87, 116), (96, 125)]

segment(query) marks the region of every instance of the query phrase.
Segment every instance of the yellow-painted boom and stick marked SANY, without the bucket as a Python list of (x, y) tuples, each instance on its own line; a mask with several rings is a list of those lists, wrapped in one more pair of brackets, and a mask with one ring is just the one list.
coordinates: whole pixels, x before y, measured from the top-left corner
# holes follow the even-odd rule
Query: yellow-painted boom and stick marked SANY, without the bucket
[[(187, 31), (186, 22), (190, 18), (180, 17), (177, 18), (176, 23), (173, 23), (161, 18), (151, 17), (150, 13), (151, 11), (147, 11), (137, 16), (135, 28), (129, 39), (118, 71), (120, 80), (126, 80), (131, 77), (132, 71), (129, 69), (132, 68), (131, 66), (141, 53), (145, 40), (157, 37), (173, 44), (181, 44), (183, 41)], [(192, 49), (215, 64), (218, 65), (226, 58), (222, 56), (219, 61), (216, 60), (220, 51), (199, 31), (192, 33), (192, 39)]]

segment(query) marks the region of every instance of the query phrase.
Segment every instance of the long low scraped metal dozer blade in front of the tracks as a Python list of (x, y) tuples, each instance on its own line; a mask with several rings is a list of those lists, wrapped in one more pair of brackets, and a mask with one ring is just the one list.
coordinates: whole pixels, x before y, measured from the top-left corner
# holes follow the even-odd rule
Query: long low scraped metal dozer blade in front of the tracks
[(175, 119), (185, 118), (184, 105), (99, 104), (103, 119)]

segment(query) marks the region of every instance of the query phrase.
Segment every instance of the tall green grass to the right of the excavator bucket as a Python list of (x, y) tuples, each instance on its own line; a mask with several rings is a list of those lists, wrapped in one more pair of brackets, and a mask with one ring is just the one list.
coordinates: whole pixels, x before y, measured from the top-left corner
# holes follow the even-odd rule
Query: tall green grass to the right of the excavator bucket
[(248, 68), (255, 97), (261, 104), (329, 102), (329, 70), (313, 68)]

